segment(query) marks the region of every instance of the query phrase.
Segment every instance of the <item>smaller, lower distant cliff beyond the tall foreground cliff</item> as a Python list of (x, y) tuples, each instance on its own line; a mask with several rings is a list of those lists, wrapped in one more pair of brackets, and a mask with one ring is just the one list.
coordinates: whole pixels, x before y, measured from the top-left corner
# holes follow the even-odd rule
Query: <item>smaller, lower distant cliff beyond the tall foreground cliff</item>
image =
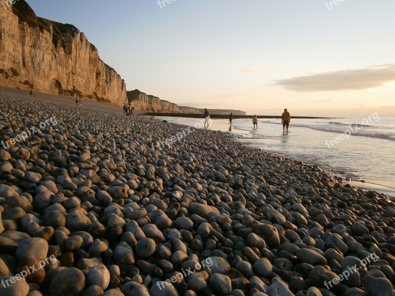
[(128, 102), (133, 102), (134, 108), (141, 112), (157, 113), (193, 113), (199, 111), (196, 108), (178, 106), (168, 101), (160, 100), (158, 97), (147, 95), (138, 89), (127, 92)]

